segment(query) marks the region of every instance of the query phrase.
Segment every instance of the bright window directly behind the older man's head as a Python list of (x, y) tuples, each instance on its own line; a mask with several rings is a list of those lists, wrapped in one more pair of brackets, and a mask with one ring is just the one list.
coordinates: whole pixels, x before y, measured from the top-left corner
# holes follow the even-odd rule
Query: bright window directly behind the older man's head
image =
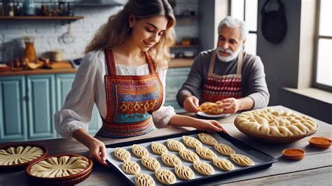
[(249, 27), (244, 50), (256, 55), (257, 49), (257, 8), (258, 0), (232, 0), (230, 2), (230, 16), (244, 20)]

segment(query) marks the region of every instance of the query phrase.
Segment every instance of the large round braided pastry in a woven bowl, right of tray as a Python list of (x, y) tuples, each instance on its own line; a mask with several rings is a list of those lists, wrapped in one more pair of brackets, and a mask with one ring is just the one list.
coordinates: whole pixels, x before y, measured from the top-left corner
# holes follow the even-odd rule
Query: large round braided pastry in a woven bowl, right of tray
[(317, 122), (307, 115), (270, 108), (241, 113), (234, 123), (244, 134), (271, 143), (297, 141), (318, 129)]

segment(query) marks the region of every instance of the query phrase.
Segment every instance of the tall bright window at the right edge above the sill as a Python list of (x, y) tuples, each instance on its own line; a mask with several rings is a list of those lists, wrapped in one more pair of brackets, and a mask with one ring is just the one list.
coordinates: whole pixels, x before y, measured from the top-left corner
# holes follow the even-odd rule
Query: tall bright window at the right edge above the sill
[(332, 91), (332, 1), (318, 1), (314, 87)]

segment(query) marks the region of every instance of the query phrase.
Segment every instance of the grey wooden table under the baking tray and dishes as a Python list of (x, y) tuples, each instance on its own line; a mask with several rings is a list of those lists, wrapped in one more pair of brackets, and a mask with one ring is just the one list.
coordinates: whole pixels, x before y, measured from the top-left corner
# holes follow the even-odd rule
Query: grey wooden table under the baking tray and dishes
[[(290, 110), (283, 106), (272, 106), (274, 109)], [(292, 110), (294, 111), (294, 110)], [(233, 124), (235, 115), (219, 120), (228, 131), (228, 133), (251, 145), (258, 150), (268, 153), (278, 159), (278, 162), (272, 164), (268, 169), (245, 173), (240, 176), (233, 176), (207, 184), (230, 184), (230, 185), (331, 185), (332, 184), (332, 148), (321, 150), (309, 146), (308, 139), (312, 136), (303, 138), (300, 141), (289, 144), (268, 144), (256, 141), (242, 134)], [(332, 138), (332, 125), (325, 122), (319, 122), (319, 129), (313, 136), (324, 136)], [(193, 130), (193, 128), (175, 128), (156, 129), (144, 136), (130, 138), (130, 141), (141, 138), (150, 138), (153, 136), (163, 136)], [(99, 138), (106, 145), (128, 141), (127, 139), (109, 139)], [(78, 141), (64, 141), (62, 139), (35, 141), (45, 145), (49, 149), (49, 155), (59, 153), (80, 153), (88, 156), (88, 149), (78, 143)], [(0, 144), (4, 145), (6, 143)], [(285, 148), (304, 149), (306, 155), (301, 161), (291, 161), (282, 157), (282, 150)], [(27, 185), (25, 171), (1, 173), (0, 185)], [(78, 185), (126, 185), (125, 180), (120, 178), (113, 169), (95, 164), (91, 176)]]

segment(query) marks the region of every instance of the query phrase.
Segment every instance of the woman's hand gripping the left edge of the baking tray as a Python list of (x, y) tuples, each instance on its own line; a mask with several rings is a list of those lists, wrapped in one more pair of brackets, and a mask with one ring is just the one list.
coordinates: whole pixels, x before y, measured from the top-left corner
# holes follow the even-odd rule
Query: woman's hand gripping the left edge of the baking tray
[(91, 143), (88, 145), (89, 151), (90, 151), (90, 157), (98, 162), (99, 164), (102, 164), (104, 166), (109, 166), (105, 160), (106, 160), (106, 147), (102, 141), (97, 140), (94, 138), (94, 140), (91, 141)]

